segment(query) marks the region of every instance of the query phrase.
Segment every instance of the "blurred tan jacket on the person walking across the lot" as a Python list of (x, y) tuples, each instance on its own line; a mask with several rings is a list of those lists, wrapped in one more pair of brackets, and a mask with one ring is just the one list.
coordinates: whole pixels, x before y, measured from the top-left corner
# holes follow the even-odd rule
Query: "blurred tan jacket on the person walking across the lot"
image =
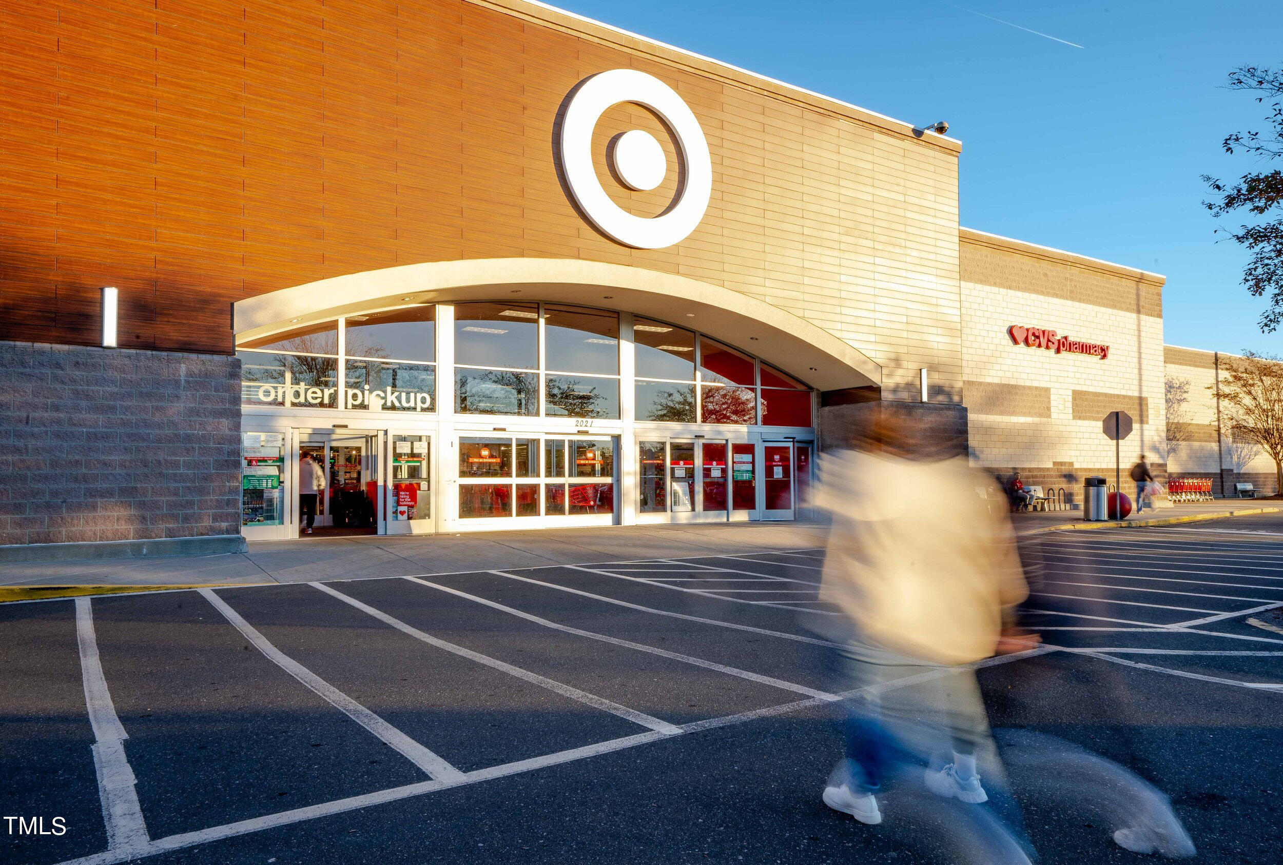
[[(820, 457), (815, 505), (833, 514), (820, 589), (861, 639), (934, 664), (993, 655), (1003, 607), (1028, 595), (1005, 511), (966, 459), (839, 451)], [(996, 509), (997, 510), (997, 509)]]

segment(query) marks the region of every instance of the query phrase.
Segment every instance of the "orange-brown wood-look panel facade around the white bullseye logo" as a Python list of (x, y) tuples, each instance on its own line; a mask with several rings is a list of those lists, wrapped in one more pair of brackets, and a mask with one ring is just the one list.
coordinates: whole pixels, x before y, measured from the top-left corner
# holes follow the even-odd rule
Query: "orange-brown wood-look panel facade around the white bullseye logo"
[[(675, 86), (713, 147), (712, 206), (675, 247), (609, 241), (557, 177), (566, 94), (618, 67)], [(952, 261), (943, 241), (920, 255), (956, 286), (956, 152), (466, 0), (6, 0), (0, 79), (4, 340), (94, 345), (98, 288), (114, 284), (122, 346), (227, 352), (241, 297), (495, 256), (680, 272), (844, 336), (844, 256), (885, 258), (888, 217), (842, 179), (843, 152), (917, 160), (917, 195), (944, 202), (924, 219), (955, 232)], [(672, 164), (662, 124), (634, 105), (599, 124), (598, 159), (633, 127)], [(672, 194), (671, 178), (615, 192), (642, 214)]]

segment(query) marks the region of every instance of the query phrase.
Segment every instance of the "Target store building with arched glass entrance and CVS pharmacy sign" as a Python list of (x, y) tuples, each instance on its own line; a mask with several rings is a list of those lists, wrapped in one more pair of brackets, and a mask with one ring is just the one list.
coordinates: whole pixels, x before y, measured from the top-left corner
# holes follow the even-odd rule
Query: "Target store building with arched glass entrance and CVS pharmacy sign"
[(797, 519), (885, 411), (1161, 442), (1162, 278), (961, 228), (946, 135), (526, 0), (0, 36), (9, 557), (299, 537), (304, 455), (323, 537)]

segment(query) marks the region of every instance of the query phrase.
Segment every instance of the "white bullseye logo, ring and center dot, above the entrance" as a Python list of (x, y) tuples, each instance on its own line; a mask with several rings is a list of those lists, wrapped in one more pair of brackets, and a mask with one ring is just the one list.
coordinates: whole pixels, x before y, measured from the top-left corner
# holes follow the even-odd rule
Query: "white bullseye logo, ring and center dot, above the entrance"
[[(618, 103), (636, 103), (659, 115), (677, 141), (681, 182), (658, 217), (635, 217), (611, 200), (593, 168), (593, 129)], [(672, 87), (636, 69), (612, 69), (585, 79), (570, 99), (561, 126), (561, 163), (575, 204), (607, 236), (656, 250), (681, 242), (708, 209), (713, 167), (699, 120)], [(667, 176), (663, 149), (649, 132), (630, 129), (611, 140), (611, 167), (631, 190), (653, 190)]]

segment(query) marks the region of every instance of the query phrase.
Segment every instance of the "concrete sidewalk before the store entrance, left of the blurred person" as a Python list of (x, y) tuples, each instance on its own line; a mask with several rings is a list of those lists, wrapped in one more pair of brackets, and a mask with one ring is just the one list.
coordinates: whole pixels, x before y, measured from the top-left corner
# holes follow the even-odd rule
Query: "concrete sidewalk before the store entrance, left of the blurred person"
[(219, 556), (0, 564), (3, 586), (302, 583), (824, 546), (828, 524), (707, 523), (257, 541)]

